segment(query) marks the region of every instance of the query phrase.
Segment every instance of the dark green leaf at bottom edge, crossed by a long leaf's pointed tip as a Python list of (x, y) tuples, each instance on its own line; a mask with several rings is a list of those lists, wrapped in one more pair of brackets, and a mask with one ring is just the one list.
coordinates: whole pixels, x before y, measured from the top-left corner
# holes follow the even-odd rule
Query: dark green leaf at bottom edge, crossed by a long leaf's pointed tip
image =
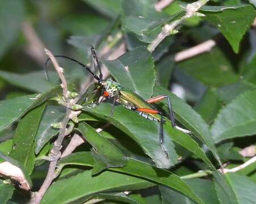
[[(219, 203), (217, 199), (217, 195), (215, 192), (215, 188), (212, 181), (205, 179), (190, 179), (186, 180), (188, 186), (194, 190), (194, 192), (198, 195), (199, 198), (207, 204), (217, 204)], [(205, 189), (207, 189), (207, 193), (205, 193)], [(162, 203), (163, 204), (171, 204), (171, 203), (187, 203), (187, 204), (195, 204), (195, 202), (191, 201), (187, 197), (183, 196), (183, 194), (176, 192), (175, 190), (171, 190), (166, 186), (160, 186), (161, 194), (162, 194)]]

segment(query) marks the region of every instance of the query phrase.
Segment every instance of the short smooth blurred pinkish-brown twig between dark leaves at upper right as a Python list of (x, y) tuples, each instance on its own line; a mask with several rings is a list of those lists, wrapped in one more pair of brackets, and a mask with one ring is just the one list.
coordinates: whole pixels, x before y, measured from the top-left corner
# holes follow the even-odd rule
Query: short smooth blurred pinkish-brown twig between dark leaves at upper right
[(188, 58), (197, 56), (199, 54), (209, 52), (215, 45), (216, 45), (215, 40), (207, 40), (207, 41), (202, 42), (201, 44), (196, 45), (192, 48), (189, 48), (189, 49), (186, 49), (186, 50), (176, 53), (174, 55), (174, 61), (181, 62), (184, 59), (188, 59)]

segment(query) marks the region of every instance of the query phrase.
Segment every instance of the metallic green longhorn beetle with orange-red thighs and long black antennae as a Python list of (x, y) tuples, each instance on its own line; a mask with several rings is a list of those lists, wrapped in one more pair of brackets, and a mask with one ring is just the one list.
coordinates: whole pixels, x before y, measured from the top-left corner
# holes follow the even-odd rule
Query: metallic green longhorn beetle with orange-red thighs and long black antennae
[[(112, 108), (110, 111), (110, 116), (113, 115), (114, 107), (117, 102), (117, 103), (122, 104), (125, 108), (139, 113), (140, 116), (142, 116), (142, 117), (145, 117), (152, 121), (159, 122), (160, 123), (159, 142), (160, 142), (160, 145), (161, 145), (163, 151), (165, 152), (166, 156), (168, 157), (168, 154), (167, 154), (165, 148), (162, 146), (163, 145), (163, 124), (165, 124), (166, 121), (163, 120), (162, 112), (158, 111), (152, 104), (156, 103), (158, 101), (161, 101), (163, 99), (166, 99), (168, 108), (169, 108), (169, 117), (170, 117), (169, 119), (171, 121), (173, 128), (177, 128), (177, 129), (183, 131), (184, 133), (191, 133), (189, 130), (179, 128), (176, 125), (170, 97), (167, 95), (160, 95), (160, 96), (152, 97), (151, 99), (148, 99), (148, 100), (144, 100), (144, 99), (142, 99), (142, 97), (137, 95), (135, 92), (122, 87), (120, 83), (115, 82), (112, 79), (104, 80), (103, 75), (102, 75), (102, 70), (100, 68), (99, 58), (96, 56), (96, 52), (95, 52), (95, 49), (93, 46), (91, 46), (91, 54), (93, 56), (93, 64), (99, 70), (99, 76), (97, 76), (95, 73), (93, 73), (93, 71), (91, 71), (89, 69), (89, 67), (87, 67), (83, 63), (81, 63), (73, 58), (66, 57), (66, 56), (60, 56), (60, 55), (57, 55), (54, 57), (62, 57), (62, 58), (70, 59), (71, 61), (74, 61), (74, 62), (78, 63), (79, 65), (81, 65), (82, 67), (84, 67), (87, 71), (89, 71), (89, 73), (91, 73), (91, 75), (93, 75), (93, 77), (98, 81), (98, 87), (95, 91), (101, 90), (101, 92), (102, 92), (102, 94), (100, 94), (101, 96), (104, 96), (106, 98), (111, 97), (114, 99), (114, 102), (112, 104)], [(48, 61), (49, 61), (49, 58), (45, 62), (45, 75), (46, 76), (47, 76), (46, 66), (47, 66)], [(47, 76), (47, 78), (48, 78), (48, 76)], [(99, 97), (96, 100), (96, 104), (99, 104)]]

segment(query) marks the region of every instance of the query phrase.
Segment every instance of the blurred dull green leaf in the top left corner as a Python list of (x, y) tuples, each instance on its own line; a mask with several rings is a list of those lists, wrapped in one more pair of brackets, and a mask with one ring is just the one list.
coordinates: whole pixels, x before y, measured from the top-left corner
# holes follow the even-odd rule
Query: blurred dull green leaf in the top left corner
[[(7, 52), (10, 45), (18, 37), (20, 25), (24, 19), (22, 0), (0, 0), (0, 58)], [(11, 12), (10, 12), (11, 11)]]

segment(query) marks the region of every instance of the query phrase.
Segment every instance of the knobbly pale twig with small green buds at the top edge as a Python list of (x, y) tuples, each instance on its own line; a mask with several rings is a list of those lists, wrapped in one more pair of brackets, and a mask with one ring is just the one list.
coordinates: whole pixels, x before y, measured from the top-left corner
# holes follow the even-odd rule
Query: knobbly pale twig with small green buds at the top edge
[(174, 20), (170, 24), (166, 24), (165, 26), (162, 27), (161, 33), (159, 33), (156, 39), (154, 39), (152, 43), (149, 44), (148, 46), (149, 52), (153, 52), (156, 49), (156, 47), (163, 41), (163, 39), (165, 39), (165, 37), (177, 33), (178, 31), (175, 30), (175, 28), (179, 24), (181, 24), (184, 19), (191, 18), (192, 16), (195, 16), (195, 15), (203, 15), (203, 14), (199, 14), (197, 11), (199, 10), (200, 7), (205, 5), (205, 3), (207, 3), (208, 1), (209, 0), (199, 0), (194, 3), (188, 4), (186, 6), (186, 10), (187, 10), (186, 15), (182, 16), (181, 19)]

